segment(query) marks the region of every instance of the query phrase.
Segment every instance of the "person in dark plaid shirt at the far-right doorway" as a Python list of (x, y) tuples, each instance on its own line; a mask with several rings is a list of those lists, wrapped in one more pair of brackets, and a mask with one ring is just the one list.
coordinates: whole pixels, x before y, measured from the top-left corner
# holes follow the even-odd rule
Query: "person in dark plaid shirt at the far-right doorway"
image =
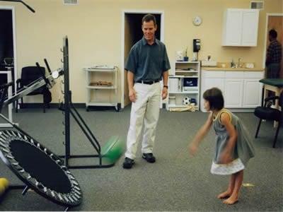
[(265, 65), (267, 67), (267, 78), (279, 78), (282, 60), (282, 45), (277, 41), (277, 32), (270, 30), (270, 45), (267, 48)]

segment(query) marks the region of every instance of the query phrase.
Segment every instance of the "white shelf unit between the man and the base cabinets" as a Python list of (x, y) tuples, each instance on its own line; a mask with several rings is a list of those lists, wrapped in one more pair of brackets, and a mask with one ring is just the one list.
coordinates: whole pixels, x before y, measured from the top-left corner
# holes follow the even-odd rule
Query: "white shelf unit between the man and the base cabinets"
[(195, 100), (195, 109), (200, 109), (200, 61), (175, 61), (168, 81), (166, 109), (187, 107), (184, 98)]

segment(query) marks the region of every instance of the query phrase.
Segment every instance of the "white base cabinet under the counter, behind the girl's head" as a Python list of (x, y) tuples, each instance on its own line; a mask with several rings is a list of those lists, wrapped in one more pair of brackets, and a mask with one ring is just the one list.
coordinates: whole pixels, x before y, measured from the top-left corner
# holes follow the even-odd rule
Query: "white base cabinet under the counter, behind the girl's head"
[[(204, 91), (216, 87), (224, 95), (224, 107), (233, 111), (248, 112), (261, 105), (263, 71), (207, 71), (202, 70)], [(201, 110), (204, 100), (201, 98)]]

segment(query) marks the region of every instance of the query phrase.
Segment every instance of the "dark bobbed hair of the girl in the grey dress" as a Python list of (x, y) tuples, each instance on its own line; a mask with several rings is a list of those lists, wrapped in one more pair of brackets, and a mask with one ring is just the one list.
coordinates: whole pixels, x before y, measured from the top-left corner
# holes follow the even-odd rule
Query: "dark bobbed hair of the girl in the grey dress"
[(219, 88), (210, 88), (202, 95), (209, 102), (210, 110), (221, 110), (224, 107), (224, 98)]

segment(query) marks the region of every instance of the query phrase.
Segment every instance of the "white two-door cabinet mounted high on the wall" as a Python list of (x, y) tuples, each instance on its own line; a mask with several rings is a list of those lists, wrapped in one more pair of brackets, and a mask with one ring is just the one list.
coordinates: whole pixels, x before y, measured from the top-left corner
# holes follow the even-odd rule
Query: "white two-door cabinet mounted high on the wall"
[(258, 18), (258, 9), (226, 9), (222, 46), (256, 47), (258, 44)]

